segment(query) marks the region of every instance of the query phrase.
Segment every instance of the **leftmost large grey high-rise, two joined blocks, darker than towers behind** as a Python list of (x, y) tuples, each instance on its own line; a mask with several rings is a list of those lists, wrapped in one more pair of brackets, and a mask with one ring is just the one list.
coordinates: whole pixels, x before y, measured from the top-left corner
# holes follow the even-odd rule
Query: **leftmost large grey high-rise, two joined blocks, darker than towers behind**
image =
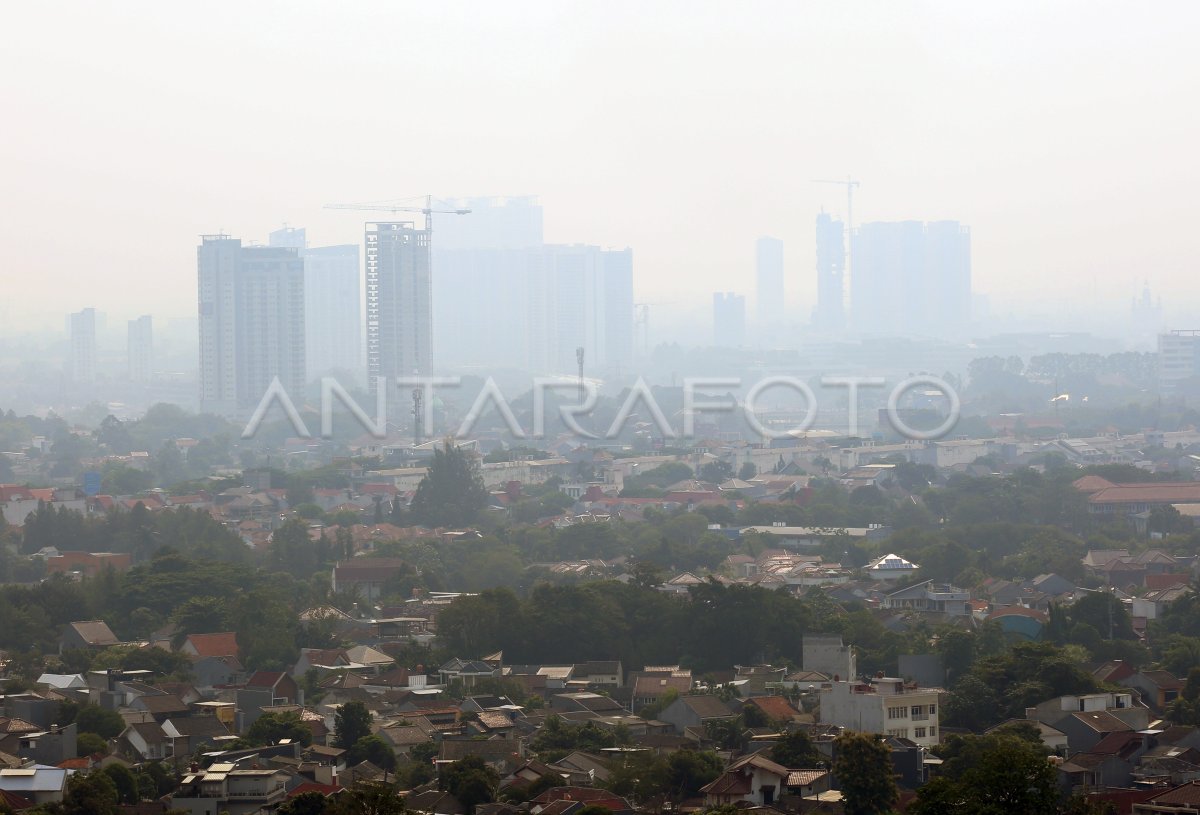
[(197, 250), (200, 409), (238, 415), (278, 377), (304, 400), (304, 262), (290, 247), (204, 235)]

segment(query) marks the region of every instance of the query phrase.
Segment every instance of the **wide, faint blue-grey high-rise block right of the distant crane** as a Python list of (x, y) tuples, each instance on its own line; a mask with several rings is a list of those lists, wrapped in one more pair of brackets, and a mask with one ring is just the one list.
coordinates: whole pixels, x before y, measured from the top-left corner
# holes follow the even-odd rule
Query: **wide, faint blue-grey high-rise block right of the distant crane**
[(864, 334), (961, 336), (971, 322), (971, 233), (958, 221), (864, 223), (851, 314)]

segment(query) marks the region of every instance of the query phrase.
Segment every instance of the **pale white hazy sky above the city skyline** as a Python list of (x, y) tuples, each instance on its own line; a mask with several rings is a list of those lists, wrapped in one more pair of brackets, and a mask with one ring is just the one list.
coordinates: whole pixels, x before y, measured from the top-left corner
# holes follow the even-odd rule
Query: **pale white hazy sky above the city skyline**
[[(812, 218), (956, 218), (996, 300), (1200, 301), (1200, 4), (20, 2), (0, 30), (6, 326), (194, 314), (196, 244), (359, 242), (322, 204), (540, 197), (640, 298), (752, 293)], [(690, 292), (691, 295), (682, 294)], [(1198, 328), (1189, 325), (1189, 328)], [(4, 331), (4, 328), (0, 328)]]

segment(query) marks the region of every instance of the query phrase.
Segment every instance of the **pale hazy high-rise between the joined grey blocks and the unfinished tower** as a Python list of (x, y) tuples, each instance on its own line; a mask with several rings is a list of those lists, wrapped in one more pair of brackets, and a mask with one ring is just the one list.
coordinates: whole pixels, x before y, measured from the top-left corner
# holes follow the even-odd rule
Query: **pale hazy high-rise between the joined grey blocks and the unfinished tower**
[[(304, 259), (305, 359), (310, 380), (337, 372), (362, 379), (362, 298), (359, 247), (308, 246), (302, 228), (270, 234), (270, 245)], [(347, 380), (344, 384), (349, 385)]]

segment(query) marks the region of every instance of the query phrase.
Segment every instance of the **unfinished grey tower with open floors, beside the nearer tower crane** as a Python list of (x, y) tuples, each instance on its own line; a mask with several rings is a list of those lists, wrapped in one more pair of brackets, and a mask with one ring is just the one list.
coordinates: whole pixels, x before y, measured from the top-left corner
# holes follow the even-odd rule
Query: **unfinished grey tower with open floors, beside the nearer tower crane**
[(430, 373), (430, 235), (410, 221), (366, 224), (367, 383)]

